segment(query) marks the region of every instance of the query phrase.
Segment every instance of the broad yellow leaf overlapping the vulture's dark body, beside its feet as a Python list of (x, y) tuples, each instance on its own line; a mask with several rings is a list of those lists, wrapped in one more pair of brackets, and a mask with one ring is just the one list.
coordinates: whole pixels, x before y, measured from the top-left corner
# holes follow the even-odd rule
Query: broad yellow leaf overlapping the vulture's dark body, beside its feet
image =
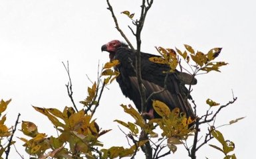
[(169, 107), (162, 101), (153, 101), (152, 105), (156, 113), (158, 113), (158, 115), (161, 117), (169, 117), (171, 114)]

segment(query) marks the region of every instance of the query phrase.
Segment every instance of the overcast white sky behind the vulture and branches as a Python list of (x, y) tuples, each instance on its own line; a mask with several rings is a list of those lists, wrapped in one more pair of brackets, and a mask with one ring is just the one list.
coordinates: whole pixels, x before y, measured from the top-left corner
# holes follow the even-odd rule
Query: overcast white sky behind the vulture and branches
[[(128, 10), (139, 15), (140, 1), (110, 1), (120, 21), (120, 26), (134, 41), (128, 30), (129, 19), (120, 15)], [(229, 65), (222, 73), (198, 76), (193, 87), (197, 111), (203, 114), (205, 100), (211, 98), (225, 104), (232, 99), (231, 89), (238, 101), (224, 109), (217, 125), (244, 117), (243, 121), (220, 129), (225, 138), (235, 142), (237, 158), (253, 156), (255, 147), (255, 46), (256, 3), (253, 0), (179, 0), (154, 1), (144, 30), (142, 50), (156, 54), (154, 46), (182, 48), (190, 44), (196, 50), (207, 52), (222, 47), (219, 61)], [(21, 120), (33, 121), (39, 132), (57, 135), (47, 118), (31, 105), (63, 109), (71, 106), (64, 84), (68, 81), (61, 64), (69, 61), (76, 103), (86, 97), (90, 81), (96, 80), (98, 60), (108, 61), (101, 52), (102, 44), (110, 40), (123, 40), (114, 28), (106, 1), (66, 0), (1, 0), (0, 2), (0, 99), (13, 99), (7, 109), (7, 124), (15, 123), (18, 113)], [(95, 117), (102, 129), (114, 129), (99, 138), (106, 147), (126, 144), (124, 134), (118, 130), (114, 119), (130, 120), (118, 106), (131, 103), (122, 95), (118, 83), (104, 92)], [(19, 125), (20, 126), (20, 125)], [(19, 129), (21, 129), (19, 127)], [(15, 136), (23, 136), (17, 132)], [(15, 140), (18, 140), (15, 138)], [(212, 142), (213, 143), (213, 142)], [(16, 144), (25, 155), (21, 142)], [(172, 158), (188, 158), (182, 146)], [(217, 150), (205, 146), (198, 158), (222, 158)], [(17, 158), (14, 149), (10, 158)], [(140, 157), (142, 158), (141, 154)]]

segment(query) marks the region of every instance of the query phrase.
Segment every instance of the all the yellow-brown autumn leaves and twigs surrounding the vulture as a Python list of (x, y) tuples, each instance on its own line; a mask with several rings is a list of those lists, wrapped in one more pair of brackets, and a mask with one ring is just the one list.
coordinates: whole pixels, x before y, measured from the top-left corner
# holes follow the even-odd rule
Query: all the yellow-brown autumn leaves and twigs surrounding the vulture
[[(150, 9), (152, 2), (148, 1), (148, 8), (144, 1), (142, 5), (144, 13)], [(109, 2), (108, 5), (108, 9), (111, 11), (112, 7)], [(141, 24), (143, 26), (144, 21), (140, 22), (134, 19), (134, 13), (131, 14), (130, 11), (123, 11), (122, 14), (128, 16), (135, 26), (141, 26)], [(114, 17), (113, 12), (112, 17)], [(117, 24), (115, 17), (114, 20)], [(134, 35), (138, 38), (138, 34), (134, 33)], [(124, 36), (123, 33), (122, 36)], [(124, 38), (126, 39), (125, 36)], [(148, 60), (170, 66), (170, 72), (164, 72), (164, 74), (171, 74), (174, 70), (180, 69), (180, 72), (187, 72), (193, 78), (199, 74), (208, 74), (212, 71), (220, 72), (220, 68), (227, 65), (226, 62), (215, 61), (221, 54), (221, 48), (212, 48), (208, 52), (203, 53), (196, 51), (188, 44), (184, 44), (184, 47), (184, 51), (178, 48), (156, 47), (156, 52), (160, 56), (152, 57)], [(218, 127), (214, 123), (217, 113), (234, 103), (237, 99), (236, 97), (233, 97), (232, 101), (223, 105), (211, 99), (202, 99), (209, 105), (209, 109), (201, 117), (196, 114), (197, 105), (192, 100), (195, 111), (195, 118), (193, 119), (192, 117), (186, 117), (186, 114), (180, 112), (178, 108), (170, 110), (166, 103), (153, 101), (152, 106), (154, 111), (161, 118), (146, 120), (132, 105), (123, 105), (120, 103), (120, 107), (123, 108), (124, 113), (130, 115), (133, 121), (126, 122), (123, 119), (116, 119), (114, 122), (121, 126), (121, 130), (126, 134), (126, 138), (130, 141), (129, 143), (132, 144), (128, 147), (114, 145), (110, 148), (104, 147), (104, 143), (100, 141), (99, 137), (108, 135), (108, 133), (111, 133), (111, 130), (108, 127), (104, 127), (103, 129), (105, 130), (102, 130), (96, 121), (94, 113), (102, 105), (100, 98), (102, 93), (104, 93), (104, 88), (110, 85), (120, 75), (114, 69), (118, 64), (120, 64), (118, 60), (112, 60), (104, 64), (100, 74), (98, 74), (97, 81), (92, 82), (92, 85), (87, 88), (88, 95), (80, 101), (80, 109), (76, 108), (74, 102), (72, 107), (64, 107), (63, 110), (33, 106), (35, 111), (41, 113), (41, 115), (51, 121), (57, 134), (46, 134), (35, 123), (22, 121), (21, 131), (24, 135), (19, 136), (19, 140), (23, 141), (25, 152), (32, 156), (31, 158), (134, 158), (139, 151), (144, 152), (147, 156), (148, 152), (146, 149), (148, 147), (146, 144), (150, 143), (152, 154), (150, 154), (151, 157), (147, 156), (146, 158), (156, 159), (174, 154), (178, 149), (177, 145), (183, 144), (184, 148), (188, 150), (188, 156), (193, 159), (195, 158), (195, 152), (213, 138), (217, 140), (219, 145), (209, 144), (209, 146), (223, 153), (224, 159), (236, 158), (233, 153), (235, 144), (230, 140), (225, 140), (223, 134), (217, 130)], [(68, 68), (66, 68), (66, 71), (70, 79)], [(189, 85), (189, 92), (192, 91), (192, 82), (193, 79)], [(69, 87), (68, 95), (73, 100), (71, 79), (69, 84), (66, 87)], [(1, 100), (0, 102), (0, 156), (3, 156), (3, 154), (8, 156), (8, 148), (15, 143), (14, 140), (10, 140), (15, 131), (13, 131), (13, 128), (5, 125), (7, 117), (6, 115), (2, 115), (10, 101), (11, 99), (9, 101)], [(211, 107), (217, 107), (217, 109), (211, 111)], [(236, 123), (241, 119), (243, 117), (230, 121), (227, 125)], [(207, 125), (207, 133), (203, 136), (204, 140), (199, 140), (198, 138), (201, 125)], [(193, 140), (192, 145), (187, 144), (190, 139)], [(7, 140), (7, 144), (4, 144), (6, 142), (3, 142), (3, 140)]]

